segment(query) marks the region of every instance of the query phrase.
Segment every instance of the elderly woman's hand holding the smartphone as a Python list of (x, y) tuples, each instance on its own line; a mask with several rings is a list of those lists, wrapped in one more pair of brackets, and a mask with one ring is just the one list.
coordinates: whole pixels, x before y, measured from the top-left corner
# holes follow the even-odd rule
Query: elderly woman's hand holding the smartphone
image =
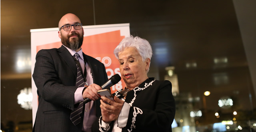
[(118, 97), (114, 96), (114, 100), (101, 96), (100, 108), (102, 120), (106, 123), (110, 123), (117, 119), (124, 105), (124, 101), (120, 100)]

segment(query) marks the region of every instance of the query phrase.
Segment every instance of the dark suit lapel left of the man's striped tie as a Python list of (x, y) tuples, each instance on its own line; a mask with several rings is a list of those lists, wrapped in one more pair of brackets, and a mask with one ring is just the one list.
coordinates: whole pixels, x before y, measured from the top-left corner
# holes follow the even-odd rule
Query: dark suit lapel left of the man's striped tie
[(70, 52), (63, 45), (60, 48), (58, 48), (58, 52), (60, 52), (60, 56), (68, 64), (74, 75), (77, 76), (76, 63), (74, 61), (73, 56), (71, 56)]

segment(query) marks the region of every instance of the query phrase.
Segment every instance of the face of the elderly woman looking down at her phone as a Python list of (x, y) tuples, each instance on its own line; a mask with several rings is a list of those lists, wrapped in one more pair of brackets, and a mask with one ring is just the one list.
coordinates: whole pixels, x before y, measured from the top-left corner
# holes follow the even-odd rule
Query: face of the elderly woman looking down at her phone
[(144, 82), (148, 76), (150, 59), (147, 58), (145, 62), (134, 47), (127, 47), (124, 51), (118, 53), (121, 76), (127, 88), (135, 88)]

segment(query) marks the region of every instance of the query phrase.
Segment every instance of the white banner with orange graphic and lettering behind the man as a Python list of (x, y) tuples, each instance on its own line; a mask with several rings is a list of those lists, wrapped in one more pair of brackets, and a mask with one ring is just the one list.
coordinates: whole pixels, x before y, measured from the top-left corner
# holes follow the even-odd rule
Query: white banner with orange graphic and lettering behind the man
[[(130, 24), (108, 24), (83, 26), (84, 42), (83, 52), (102, 62), (106, 67), (108, 78), (114, 74), (120, 75), (119, 62), (115, 58), (114, 48), (124, 37), (130, 36)], [(31, 73), (34, 72), (36, 53), (41, 49), (59, 48), (62, 44), (58, 37), (58, 28), (31, 29)], [(123, 88), (124, 82), (121, 80), (112, 86), (112, 93)], [(38, 108), (37, 88), (32, 78), (32, 117), (33, 125)]]

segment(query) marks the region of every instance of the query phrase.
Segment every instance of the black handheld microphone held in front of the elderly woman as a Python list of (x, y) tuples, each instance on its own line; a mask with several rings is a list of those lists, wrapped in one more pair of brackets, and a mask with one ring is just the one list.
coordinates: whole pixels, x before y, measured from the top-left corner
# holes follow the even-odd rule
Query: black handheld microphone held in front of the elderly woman
[[(111, 78), (109, 78), (109, 80), (107, 82), (105, 82), (101, 88), (102, 89), (106, 89), (106, 88), (110, 88), (111, 86), (117, 84), (119, 81), (121, 80), (121, 77), (118, 74), (114, 74), (113, 76), (111, 76)], [(89, 98), (84, 99), (84, 104), (90, 102), (92, 100), (90, 100)]]

